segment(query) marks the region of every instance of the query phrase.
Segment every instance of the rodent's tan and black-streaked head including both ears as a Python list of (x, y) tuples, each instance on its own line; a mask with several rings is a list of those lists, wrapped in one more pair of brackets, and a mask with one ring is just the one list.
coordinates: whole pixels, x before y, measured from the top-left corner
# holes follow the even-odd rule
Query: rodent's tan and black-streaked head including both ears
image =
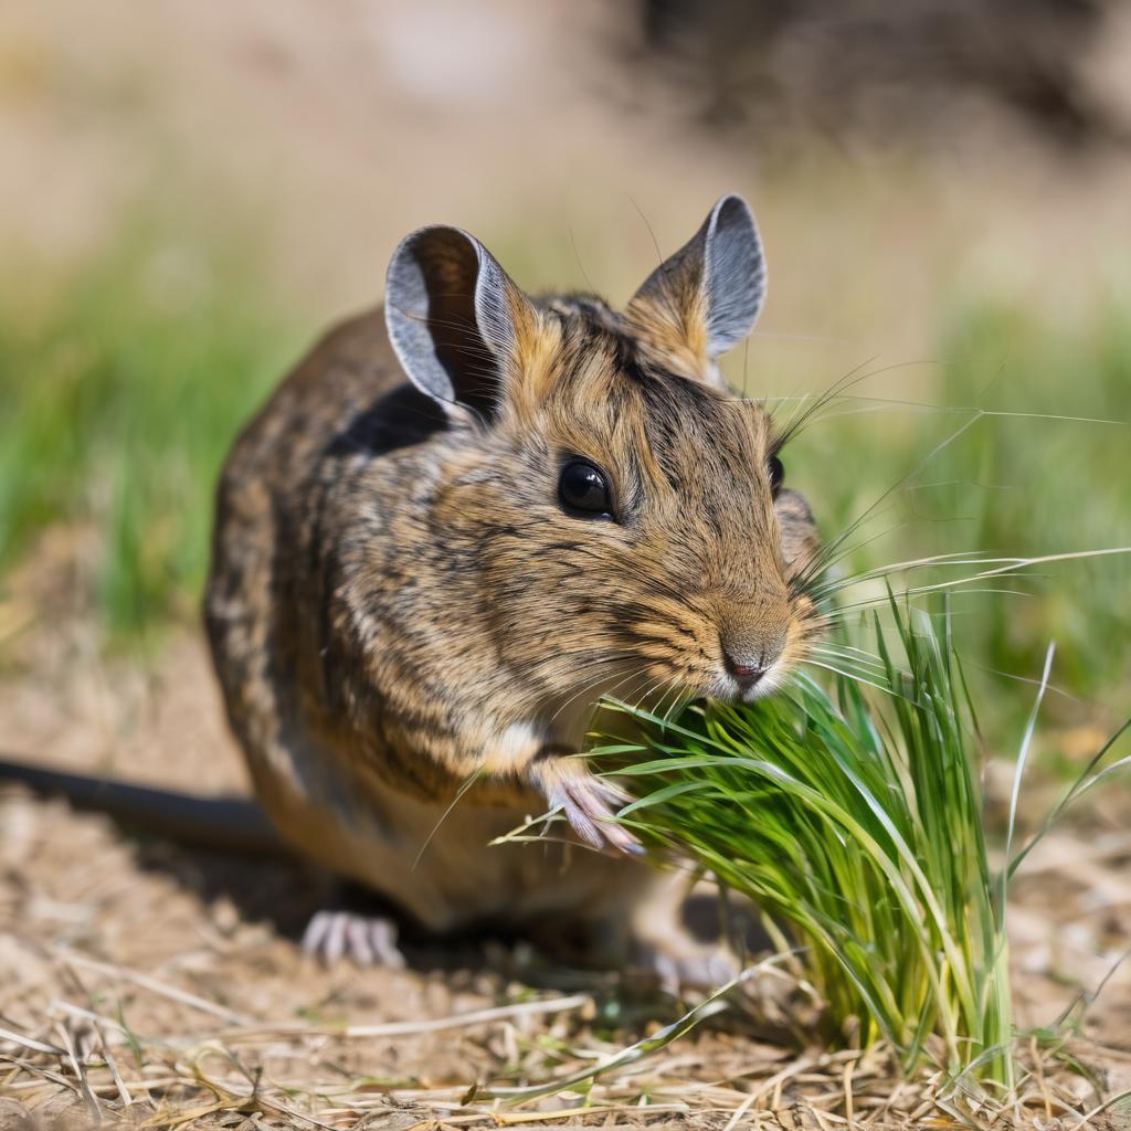
[(805, 656), (812, 516), (783, 486), (772, 418), (717, 364), (765, 293), (733, 195), (623, 312), (534, 301), (456, 228), (397, 249), (389, 333), (454, 438), (434, 518), (532, 709), (653, 689), (753, 699)]

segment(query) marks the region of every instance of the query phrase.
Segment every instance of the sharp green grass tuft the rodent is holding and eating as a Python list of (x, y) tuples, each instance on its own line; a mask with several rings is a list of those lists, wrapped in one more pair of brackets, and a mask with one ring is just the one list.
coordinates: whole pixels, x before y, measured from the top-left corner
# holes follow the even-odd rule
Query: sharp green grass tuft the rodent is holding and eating
[(830, 697), (802, 674), (756, 705), (674, 717), (619, 705), (642, 736), (590, 757), (638, 796), (619, 821), (788, 924), (827, 1003), (826, 1039), (886, 1038), (910, 1070), (935, 1034), (944, 1068), (976, 1064), (1008, 1093), (1003, 889), (972, 713), (948, 622), (940, 636), (892, 610), (906, 666), (877, 622), (882, 701), (844, 676)]

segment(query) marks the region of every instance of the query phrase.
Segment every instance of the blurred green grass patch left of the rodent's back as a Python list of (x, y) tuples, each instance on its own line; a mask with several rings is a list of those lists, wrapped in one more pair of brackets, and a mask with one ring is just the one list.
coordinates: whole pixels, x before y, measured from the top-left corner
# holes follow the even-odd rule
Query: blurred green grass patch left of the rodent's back
[(297, 344), (262, 274), (139, 223), (43, 309), (0, 285), (0, 576), (90, 524), (111, 639), (195, 615), (224, 456)]

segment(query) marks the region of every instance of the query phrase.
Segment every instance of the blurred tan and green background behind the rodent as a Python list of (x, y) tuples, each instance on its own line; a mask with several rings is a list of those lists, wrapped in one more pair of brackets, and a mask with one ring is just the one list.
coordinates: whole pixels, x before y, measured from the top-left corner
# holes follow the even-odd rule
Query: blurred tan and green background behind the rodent
[[(677, 81), (649, 54), (651, 8), (3, 9), (6, 679), (38, 663), (18, 641), (50, 595), (11, 578), (53, 530), (83, 533), (79, 615), (104, 655), (152, 665), (199, 631), (228, 446), (317, 333), (380, 300), (397, 240), (429, 222), (473, 230), (532, 291), (623, 302), (654, 239), (670, 253), (743, 191), (770, 302), (732, 377), (786, 415), (862, 378), (786, 455), (826, 537), (883, 500), (840, 569), (1131, 546), (1125, 150), (1048, 137), (946, 77), (957, 140), (932, 104), (866, 129), (841, 115), (830, 141), (788, 84), (759, 102), (731, 83), (728, 116), (703, 85), (717, 59), (684, 58)], [(960, 648), (998, 741), (1054, 639), (1051, 718), (1079, 757), (1131, 707), (1131, 558), (1027, 575), (956, 598)]]

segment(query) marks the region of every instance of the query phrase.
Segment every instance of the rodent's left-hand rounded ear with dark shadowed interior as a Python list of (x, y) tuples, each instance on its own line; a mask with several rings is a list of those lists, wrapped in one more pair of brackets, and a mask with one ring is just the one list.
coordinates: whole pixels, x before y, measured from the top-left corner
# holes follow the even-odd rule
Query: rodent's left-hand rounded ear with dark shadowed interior
[(389, 264), (385, 321), (417, 389), (449, 413), (466, 405), (491, 415), (533, 308), (478, 240), (457, 227), (422, 227)]

